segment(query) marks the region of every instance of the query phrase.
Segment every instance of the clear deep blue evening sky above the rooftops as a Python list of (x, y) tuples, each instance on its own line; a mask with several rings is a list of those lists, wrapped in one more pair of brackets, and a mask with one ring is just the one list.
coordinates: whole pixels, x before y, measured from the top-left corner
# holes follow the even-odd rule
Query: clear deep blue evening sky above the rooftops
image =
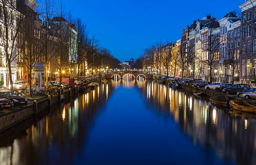
[[(244, 0), (62, 0), (66, 10), (81, 17), (100, 46), (120, 61), (138, 58), (144, 48), (160, 41), (177, 41), (182, 28), (207, 14), (217, 19), (240, 11)], [(241, 12), (241, 11), (240, 11)], [(240, 16), (240, 15), (239, 15)]]

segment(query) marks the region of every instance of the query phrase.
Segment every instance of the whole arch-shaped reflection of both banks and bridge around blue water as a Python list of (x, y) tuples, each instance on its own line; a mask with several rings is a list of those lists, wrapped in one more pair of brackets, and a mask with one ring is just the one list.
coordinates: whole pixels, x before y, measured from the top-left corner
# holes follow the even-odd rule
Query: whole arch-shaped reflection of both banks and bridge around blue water
[(256, 162), (254, 118), (245, 118), (228, 108), (215, 106), (207, 99), (151, 80), (119, 79), (109, 80), (94, 91), (56, 105), (42, 117), (28, 119), (1, 133), (1, 164), (74, 163), (74, 157), (87, 145), (88, 130), (95, 118), (120, 85), (136, 86), (152, 107), (148, 111), (154, 110), (164, 119), (173, 118), (195, 146), (209, 147), (220, 159), (235, 160), (236, 164)]

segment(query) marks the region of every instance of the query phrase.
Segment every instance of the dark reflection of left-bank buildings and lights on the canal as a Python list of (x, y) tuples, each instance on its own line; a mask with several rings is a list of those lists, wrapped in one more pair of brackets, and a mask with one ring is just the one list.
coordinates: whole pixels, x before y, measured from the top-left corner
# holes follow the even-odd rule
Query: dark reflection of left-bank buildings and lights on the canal
[(32, 118), (32, 122), (19, 131), (14, 127), (2, 133), (3, 138), (11, 141), (0, 141), (0, 164), (72, 164), (86, 145), (88, 129), (114, 89), (112, 82), (102, 84), (96, 90), (53, 107), (41, 119)]

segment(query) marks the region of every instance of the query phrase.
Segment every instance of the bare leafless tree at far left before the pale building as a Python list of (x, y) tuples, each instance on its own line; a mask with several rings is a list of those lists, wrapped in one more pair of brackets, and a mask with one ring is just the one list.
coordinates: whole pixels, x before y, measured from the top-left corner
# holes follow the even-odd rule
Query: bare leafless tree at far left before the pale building
[[(24, 0), (19, 3), (26, 4), (28, 2)], [(30, 11), (22, 8), (20, 5), (17, 5), (16, 1), (13, 0), (0, 0), (0, 4), (0, 17), (3, 19), (0, 24), (0, 40), (4, 47), (4, 53), (1, 58), (5, 58), (4, 65), (8, 67), (10, 90), (13, 91), (13, 77), (11, 69), (12, 67), (15, 67), (15, 60), (18, 55), (16, 52), (16, 38), (20, 27), (23, 24), (24, 18), (30, 13)]]

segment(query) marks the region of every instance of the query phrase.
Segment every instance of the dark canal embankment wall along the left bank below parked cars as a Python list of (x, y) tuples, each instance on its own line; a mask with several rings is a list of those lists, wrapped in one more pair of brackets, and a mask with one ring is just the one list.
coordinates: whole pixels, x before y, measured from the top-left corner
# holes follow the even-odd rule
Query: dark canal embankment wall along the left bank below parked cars
[(0, 112), (0, 132), (22, 122), (29, 117), (37, 116), (39, 113), (45, 111), (48, 107), (62, 102), (64, 99), (70, 99), (79, 93), (82, 86), (87, 86), (92, 82), (98, 82), (100, 79), (89, 81), (81, 86), (69, 88), (68, 90), (59, 91), (56, 96), (45, 96), (38, 100), (28, 100), (29, 103), (24, 106), (6, 109)]

